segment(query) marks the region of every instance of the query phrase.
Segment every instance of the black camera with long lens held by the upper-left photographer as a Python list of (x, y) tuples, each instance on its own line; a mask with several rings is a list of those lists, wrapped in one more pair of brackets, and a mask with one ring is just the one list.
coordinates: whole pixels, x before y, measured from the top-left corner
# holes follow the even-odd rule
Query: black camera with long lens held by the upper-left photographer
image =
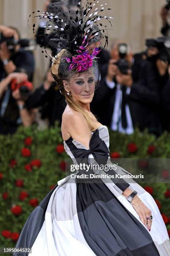
[(33, 51), (35, 49), (35, 40), (33, 39), (20, 39), (19, 41), (15, 40), (13, 36), (5, 37), (3, 33), (0, 33), (0, 44), (6, 42), (8, 50), (11, 52), (15, 51), (15, 46), (20, 44), (20, 47), (28, 50)]

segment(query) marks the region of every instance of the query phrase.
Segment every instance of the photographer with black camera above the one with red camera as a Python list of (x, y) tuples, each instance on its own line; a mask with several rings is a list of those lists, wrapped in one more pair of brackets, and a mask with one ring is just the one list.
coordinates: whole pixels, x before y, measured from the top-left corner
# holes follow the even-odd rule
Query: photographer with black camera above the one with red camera
[(18, 68), (23, 69), (32, 81), (33, 54), (20, 47), (20, 34), (16, 28), (0, 25), (0, 81)]

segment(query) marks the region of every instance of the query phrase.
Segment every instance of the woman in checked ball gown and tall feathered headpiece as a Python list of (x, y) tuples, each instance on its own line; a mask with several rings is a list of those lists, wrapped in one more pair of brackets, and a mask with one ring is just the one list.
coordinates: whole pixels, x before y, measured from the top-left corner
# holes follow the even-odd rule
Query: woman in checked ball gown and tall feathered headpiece
[[(61, 5), (68, 3), (50, 4), (48, 13), (57, 15), (57, 19), (63, 18), (60, 10), (65, 6), (61, 8)], [(90, 16), (89, 23), (89, 5), (80, 8), (77, 4), (77, 8), (79, 14), (75, 11), (67, 16), (67, 20), (58, 20), (62, 25), (60, 28), (65, 28), (62, 33), (65, 40), (62, 40), (61, 33), (58, 33), (60, 40), (57, 33), (50, 40), (52, 46), (60, 47), (62, 40), (63, 47), (53, 58), (51, 72), (67, 101), (62, 115), (65, 151), (79, 166), (109, 163), (112, 168), (108, 174), (128, 174), (120, 166), (112, 165), (108, 129), (90, 112), (90, 102), (98, 82), (96, 46), (102, 36), (94, 24), (94, 15)], [(85, 13), (88, 13), (86, 21)], [(69, 23), (74, 15), (74, 22)], [(53, 20), (52, 26), (55, 24)], [(77, 33), (80, 30), (81, 34)], [(75, 42), (78, 45), (74, 46)], [(121, 177), (98, 178), (94, 175), (91, 179), (84, 175), (87, 171), (98, 176), (106, 174), (100, 167), (87, 169), (85, 165), (85, 169), (80, 168), (73, 176), (70, 174), (60, 180), (30, 214), (16, 247), (32, 248), (29, 254), (32, 256), (170, 255), (168, 233), (153, 197), (133, 179), (130, 183)]]

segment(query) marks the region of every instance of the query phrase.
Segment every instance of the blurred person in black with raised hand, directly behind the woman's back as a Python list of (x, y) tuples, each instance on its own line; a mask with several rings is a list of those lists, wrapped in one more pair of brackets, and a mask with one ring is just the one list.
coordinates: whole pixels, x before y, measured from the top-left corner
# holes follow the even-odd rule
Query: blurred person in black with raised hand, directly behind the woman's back
[(56, 88), (50, 69), (47, 71), (42, 85), (28, 97), (25, 105), (28, 110), (40, 107), (42, 119), (47, 118), (50, 126), (53, 126), (56, 120), (61, 125), (66, 102), (64, 96)]

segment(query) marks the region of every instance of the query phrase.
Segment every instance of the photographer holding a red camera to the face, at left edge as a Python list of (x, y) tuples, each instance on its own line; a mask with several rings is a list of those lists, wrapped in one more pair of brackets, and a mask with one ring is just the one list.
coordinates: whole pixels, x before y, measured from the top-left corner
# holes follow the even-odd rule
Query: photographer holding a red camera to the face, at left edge
[(24, 73), (10, 73), (0, 82), (0, 134), (15, 133), (19, 125), (26, 127), (34, 120), (33, 111), (25, 108), (25, 87), (32, 89), (27, 78)]

